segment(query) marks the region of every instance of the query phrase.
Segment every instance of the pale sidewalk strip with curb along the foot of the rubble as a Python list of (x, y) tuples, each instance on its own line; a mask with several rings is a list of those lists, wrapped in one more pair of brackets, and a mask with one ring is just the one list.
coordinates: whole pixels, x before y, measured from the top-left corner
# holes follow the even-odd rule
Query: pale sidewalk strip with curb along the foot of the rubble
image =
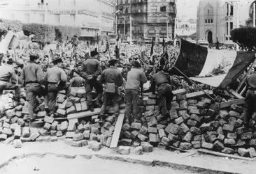
[(13, 145), (0, 144), (0, 149), (0, 168), (5, 166), (6, 162), (10, 159), (15, 159), (16, 157), (29, 157), (31, 155), (43, 157), (43, 155), (55, 154), (66, 158), (80, 156), (90, 159), (92, 156), (95, 156), (101, 159), (127, 161), (148, 166), (169, 166), (173, 169), (191, 171), (192, 173), (255, 173), (256, 171), (256, 161), (242, 161), (210, 155), (169, 152), (159, 148), (154, 148), (153, 152), (144, 153), (143, 155), (135, 155), (132, 149), (130, 155), (119, 155), (116, 150), (109, 148), (102, 148), (99, 152), (94, 152), (86, 147), (75, 148), (66, 145), (64, 141), (57, 141), (51, 143), (23, 143), (21, 149), (15, 149)]

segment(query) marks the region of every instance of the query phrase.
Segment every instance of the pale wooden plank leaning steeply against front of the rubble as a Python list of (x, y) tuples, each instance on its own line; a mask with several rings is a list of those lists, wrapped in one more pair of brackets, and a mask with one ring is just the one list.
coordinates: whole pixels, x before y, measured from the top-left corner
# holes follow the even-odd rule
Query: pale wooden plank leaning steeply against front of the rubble
[(116, 148), (118, 147), (118, 140), (120, 137), (121, 129), (122, 129), (122, 123), (125, 119), (125, 113), (120, 113), (118, 116), (118, 120), (115, 125), (115, 131), (111, 140), (111, 146), (110, 148)]

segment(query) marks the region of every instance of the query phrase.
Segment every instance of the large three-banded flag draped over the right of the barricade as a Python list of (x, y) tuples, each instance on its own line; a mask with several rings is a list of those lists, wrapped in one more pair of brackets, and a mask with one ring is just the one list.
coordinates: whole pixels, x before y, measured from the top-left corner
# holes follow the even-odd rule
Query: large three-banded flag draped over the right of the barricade
[[(226, 88), (255, 60), (256, 52), (208, 49), (180, 40), (174, 64), (187, 77), (216, 88)], [(180, 75), (173, 69), (173, 74)]]

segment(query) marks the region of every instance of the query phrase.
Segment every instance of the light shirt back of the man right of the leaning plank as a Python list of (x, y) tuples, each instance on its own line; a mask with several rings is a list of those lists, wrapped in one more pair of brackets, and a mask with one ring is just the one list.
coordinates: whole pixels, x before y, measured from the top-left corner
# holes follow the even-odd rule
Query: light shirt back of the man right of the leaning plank
[(147, 82), (145, 72), (137, 68), (132, 68), (127, 74), (125, 89), (140, 90), (140, 84), (145, 84), (145, 82)]

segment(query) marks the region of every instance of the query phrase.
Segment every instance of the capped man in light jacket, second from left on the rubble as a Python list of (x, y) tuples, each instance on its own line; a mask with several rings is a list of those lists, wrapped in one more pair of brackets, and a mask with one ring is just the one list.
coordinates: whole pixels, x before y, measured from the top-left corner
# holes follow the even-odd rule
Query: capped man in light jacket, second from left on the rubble
[(26, 97), (29, 102), (29, 117), (30, 120), (34, 120), (34, 109), (36, 107), (36, 95), (42, 92), (41, 86), (43, 86), (43, 70), (41, 65), (36, 63), (38, 56), (29, 56), (30, 62), (22, 69), (20, 79), (22, 84), (26, 87)]

